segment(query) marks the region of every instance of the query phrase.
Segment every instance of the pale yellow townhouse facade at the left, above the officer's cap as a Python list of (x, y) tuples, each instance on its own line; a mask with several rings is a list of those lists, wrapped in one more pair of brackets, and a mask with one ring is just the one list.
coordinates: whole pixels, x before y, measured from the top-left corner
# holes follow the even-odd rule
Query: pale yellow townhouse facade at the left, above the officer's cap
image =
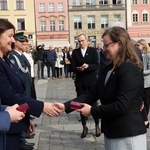
[(34, 0), (0, 0), (0, 18), (9, 20), (16, 32), (24, 32), (36, 44)]

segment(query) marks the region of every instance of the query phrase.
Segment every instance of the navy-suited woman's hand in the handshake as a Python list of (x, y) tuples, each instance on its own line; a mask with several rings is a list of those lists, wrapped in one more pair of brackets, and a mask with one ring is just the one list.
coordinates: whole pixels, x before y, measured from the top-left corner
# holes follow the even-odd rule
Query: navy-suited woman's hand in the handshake
[(44, 109), (43, 111), (47, 114), (48, 117), (55, 117), (61, 113), (53, 103), (44, 102)]

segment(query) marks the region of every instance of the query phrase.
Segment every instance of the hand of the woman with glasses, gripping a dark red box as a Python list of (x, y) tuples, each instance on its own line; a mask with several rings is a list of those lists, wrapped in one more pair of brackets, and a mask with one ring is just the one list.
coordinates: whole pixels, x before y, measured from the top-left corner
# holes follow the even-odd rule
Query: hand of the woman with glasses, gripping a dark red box
[(84, 107), (77, 109), (77, 112), (80, 112), (83, 116), (88, 117), (91, 115), (91, 105), (84, 104)]

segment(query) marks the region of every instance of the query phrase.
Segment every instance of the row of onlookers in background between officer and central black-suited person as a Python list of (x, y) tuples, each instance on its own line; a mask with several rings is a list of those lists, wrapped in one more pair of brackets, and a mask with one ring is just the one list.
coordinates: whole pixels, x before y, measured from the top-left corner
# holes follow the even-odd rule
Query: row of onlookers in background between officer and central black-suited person
[[(49, 46), (44, 49), (45, 45), (37, 46), (35, 61), (37, 62), (37, 78), (38, 79), (62, 79), (63, 73), (65, 78), (72, 77), (73, 71), (71, 67), (73, 48), (66, 46), (61, 47)], [(47, 75), (44, 75), (44, 67), (47, 67)]]

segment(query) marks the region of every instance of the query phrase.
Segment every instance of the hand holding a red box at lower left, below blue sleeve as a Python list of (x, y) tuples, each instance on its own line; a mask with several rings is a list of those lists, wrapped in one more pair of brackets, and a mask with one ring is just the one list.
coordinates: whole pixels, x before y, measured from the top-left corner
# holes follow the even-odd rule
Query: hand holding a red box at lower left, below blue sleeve
[(10, 115), (11, 122), (18, 122), (25, 117), (25, 114), (23, 112), (16, 110), (17, 107), (19, 107), (19, 105), (15, 104), (13, 106), (8, 106), (5, 109), (5, 111), (7, 111)]

